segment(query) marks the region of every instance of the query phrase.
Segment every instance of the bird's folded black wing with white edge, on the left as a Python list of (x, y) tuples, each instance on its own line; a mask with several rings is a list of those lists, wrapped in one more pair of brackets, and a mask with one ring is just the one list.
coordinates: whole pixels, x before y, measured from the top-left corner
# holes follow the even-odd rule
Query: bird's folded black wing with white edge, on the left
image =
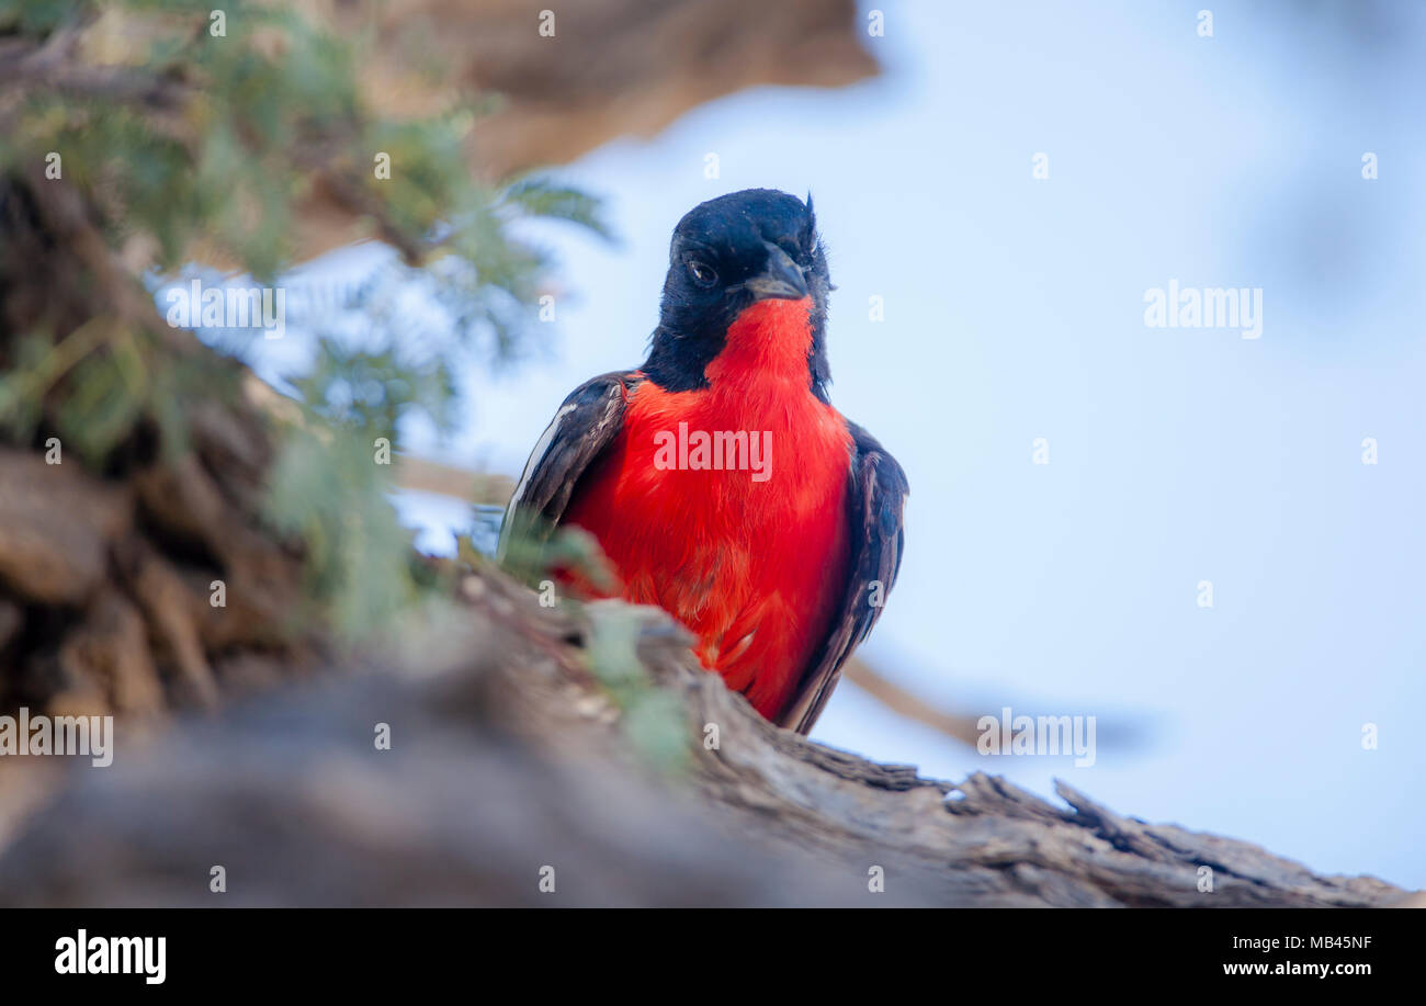
[(623, 428), (626, 392), (642, 380), (633, 371), (613, 371), (569, 392), (535, 444), (505, 508), (501, 559), (513, 534), (548, 535), (559, 524), (579, 477)]

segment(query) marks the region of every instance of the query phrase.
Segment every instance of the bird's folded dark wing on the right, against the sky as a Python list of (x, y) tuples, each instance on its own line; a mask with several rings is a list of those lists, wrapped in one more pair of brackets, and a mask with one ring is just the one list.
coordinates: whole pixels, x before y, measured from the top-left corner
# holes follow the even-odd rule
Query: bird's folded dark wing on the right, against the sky
[(807, 733), (817, 722), (841, 679), (841, 665), (877, 624), (881, 605), (901, 569), (901, 508), (911, 487), (901, 465), (876, 437), (850, 420), (847, 428), (854, 447), (851, 477), (847, 479), (851, 566), (841, 612), (777, 719), (779, 726), (799, 733)]

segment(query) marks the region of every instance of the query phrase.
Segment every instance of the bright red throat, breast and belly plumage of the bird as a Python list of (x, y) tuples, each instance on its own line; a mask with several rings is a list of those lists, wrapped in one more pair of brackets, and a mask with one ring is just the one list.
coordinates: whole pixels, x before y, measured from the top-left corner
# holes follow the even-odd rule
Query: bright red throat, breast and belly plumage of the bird
[[(810, 298), (747, 307), (706, 388), (626, 391), (623, 430), (565, 515), (599, 539), (625, 599), (677, 616), (703, 665), (770, 719), (826, 638), (847, 578), (851, 435), (809, 388), (810, 308)], [(679, 424), (761, 432), (766, 481), (657, 465), (659, 434)]]

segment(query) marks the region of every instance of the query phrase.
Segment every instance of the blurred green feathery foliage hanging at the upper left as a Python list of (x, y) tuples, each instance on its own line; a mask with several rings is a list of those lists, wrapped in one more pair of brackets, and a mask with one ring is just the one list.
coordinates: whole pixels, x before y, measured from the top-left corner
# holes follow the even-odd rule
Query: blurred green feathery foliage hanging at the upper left
[[(222, 9), (225, 34), (214, 36), (211, 10), (195, 0), (0, 0), (7, 44), (76, 30), (106, 53), (61, 67), (74, 71), (64, 87), (0, 81), (0, 183), (24, 184), (57, 153), (63, 180), (41, 184), (81, 193), (113, 251), (153, 248), (157, 270), (174, 275), (197, 250), (261, 284), (291, 264), (294, 221), (322, 186), (402, 250), (404, 268), (424, 274), (455, 340), (412, 347), (391, 304), (371, 305), (376, 324), (359, 344), (314, 332), (315, 361), (294, 380), (301, 420), (284, 425), (264, 514), (302, 542), (322, 614), (364, 636), (422, 589), (374, 442), (399, 452), (401, 420), (414, 411), (449, 430), (461, 352), (503, 358), (519, 348), (549, 261), (512, 238), (518, 220), (605, 228), (595, 201), (573, 190), (538, 180), (491, 188), (472, 177), (466, 150), (483, 98), (415, 121), (364, 107), (369, 31), (338, 37), (305, 9), (235, 1)], [(389, 157), (389, 177), (374, 170), (378, 154)], [(184, 449), (190, 407), (234, 395), (235, 378), (165, 352), (161, 324), (101, 307), (73, 331), (14, 332), (9, 345), (0, 331), (7, 435), (23, 442), (54, 428), (104, 468), (147, 418), (164, 451)]]

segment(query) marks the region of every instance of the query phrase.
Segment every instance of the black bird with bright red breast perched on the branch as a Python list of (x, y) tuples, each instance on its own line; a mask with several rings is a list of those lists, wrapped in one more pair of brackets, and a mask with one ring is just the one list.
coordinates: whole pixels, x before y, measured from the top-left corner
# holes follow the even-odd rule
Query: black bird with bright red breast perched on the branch
[(810, 194), (749, 188), (684, 214), (645, 362), (559, 405), (498, 549), (582, 528), (615, 582), (566, 582), (663, 608), (706, 669), (803, 735), (881, 615), (910, 492), (831, 405), (831, 290)]

